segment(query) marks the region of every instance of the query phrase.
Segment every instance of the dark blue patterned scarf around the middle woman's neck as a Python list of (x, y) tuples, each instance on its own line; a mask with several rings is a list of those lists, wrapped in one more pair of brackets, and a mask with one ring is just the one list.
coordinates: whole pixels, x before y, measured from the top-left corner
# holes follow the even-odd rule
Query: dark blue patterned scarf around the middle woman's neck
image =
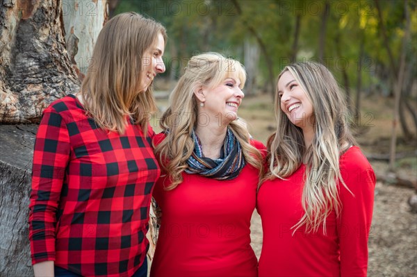
[(242, 154), (240, 143), (236, 140), (230, 128), (227, 128), (227, 135), (220, 151), (220, 158), (212, 160), (203, 156), (202, 144), (194, 133), (191, 133), (194, 140), (193, 155), (188, 158), (188, 174), (199, 174), (215, 180), (231, 180), (238, 176), (245, 167), (245, 157)]

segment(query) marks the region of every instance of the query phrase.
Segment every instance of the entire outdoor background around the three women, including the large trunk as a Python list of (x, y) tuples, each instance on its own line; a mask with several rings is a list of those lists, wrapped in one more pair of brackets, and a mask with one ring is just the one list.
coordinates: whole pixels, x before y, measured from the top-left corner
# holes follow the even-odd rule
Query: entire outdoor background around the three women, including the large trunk
[[(167, 96), (196, 53), (218, 51), (245, 65), (239, 116), (264, 143), (275, 131), (281, 69), (304, 60), (326, 65), (345, 91), (352, 127), (377, 175), (368, 276), (417, 276), (417, 0), (0, 3), (0, 276), (33, 276), (27, 207), (42, 110), (79, 90), (94, 69), (101, 26), (127, 11), (167, 28), (167, 70), (154, 83), (156, 131)], [(259, 256), (256, 212), (251, 230)]]

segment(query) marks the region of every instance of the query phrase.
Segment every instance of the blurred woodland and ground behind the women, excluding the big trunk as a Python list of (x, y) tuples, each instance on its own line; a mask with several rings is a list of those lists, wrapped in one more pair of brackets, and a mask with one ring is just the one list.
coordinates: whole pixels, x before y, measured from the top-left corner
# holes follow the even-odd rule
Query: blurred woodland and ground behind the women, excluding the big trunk
[[(352, 127), (377, 175), (368, 276), (417, 276), (417, 1), (120, 0), (113, 13), (129, 10), (162, 22), (169, 36), (167, 71), (155, 83), (156, 131), (167, 94), (196, 53), (218, 51), (245, 65), (239, 116), (264, 143), (275, 131), (281, 69), (304, 60), (326, 65), (345, 91)], [(259, 257), (256, 212), (251, 230)]]

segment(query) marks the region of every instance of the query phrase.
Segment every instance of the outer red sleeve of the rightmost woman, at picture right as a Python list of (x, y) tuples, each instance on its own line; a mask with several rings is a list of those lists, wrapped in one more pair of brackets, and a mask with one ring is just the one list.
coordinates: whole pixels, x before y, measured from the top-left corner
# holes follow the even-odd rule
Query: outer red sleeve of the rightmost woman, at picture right
[(339, 196), (343, 206), (337, 226), (341, 276), (366, 276), (375, 174), (368, 165), (360, 170), (347, 169), (342, 176), (350, 192), (341, 184)]

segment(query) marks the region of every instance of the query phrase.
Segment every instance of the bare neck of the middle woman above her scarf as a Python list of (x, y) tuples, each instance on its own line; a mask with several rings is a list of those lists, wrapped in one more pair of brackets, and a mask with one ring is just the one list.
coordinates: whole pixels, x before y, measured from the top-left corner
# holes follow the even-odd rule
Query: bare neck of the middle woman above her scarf
[(224, 144), (227, 127), (197, 126), (195, 134), (202, 144), (203, 155), (206, 158), (217, 159), (220, 157), (220, 150)]

